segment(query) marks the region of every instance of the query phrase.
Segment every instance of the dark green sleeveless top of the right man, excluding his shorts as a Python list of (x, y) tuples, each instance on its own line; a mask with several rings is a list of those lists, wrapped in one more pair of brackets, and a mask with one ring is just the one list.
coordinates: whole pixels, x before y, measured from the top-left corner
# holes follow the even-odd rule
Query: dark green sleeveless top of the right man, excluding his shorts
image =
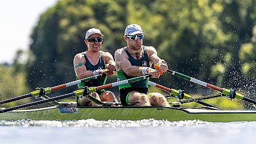
[[(131, 54), (127, 51), (126, 47), (122, 49), (125, 50), (126, 54), (128, 55), (128, 60), (130, 61), (131, 66), (150, 67), (148, 54), (146, 52), (146, 47), (144, 45), (142, 46), (142, 57), (139, 60), (134, 59), (131, 56)], [(128, 76), (124, 71), (122, 71), (122, 69), (117, 72), (117, 81), (123, 81), (130, 78), (134, 78), (134, 77)], [(119, 89), (123, 89), (126, 87), (148, 87), (148, 79), (149, 78), (141, 81), (126, 83), (118, 87)]]

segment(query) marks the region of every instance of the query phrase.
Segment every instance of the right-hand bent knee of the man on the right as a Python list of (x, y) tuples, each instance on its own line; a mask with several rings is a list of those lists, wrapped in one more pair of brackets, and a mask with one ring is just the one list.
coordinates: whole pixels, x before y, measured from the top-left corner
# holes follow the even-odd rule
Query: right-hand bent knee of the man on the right
[(151, 105), (154, 106), (168, 106), (171, 107), (168, 101), (166, 100), (166, 97), (164, 97), (162, 94), (158, 92), (150, 92), (149, 93), (149, 101)]

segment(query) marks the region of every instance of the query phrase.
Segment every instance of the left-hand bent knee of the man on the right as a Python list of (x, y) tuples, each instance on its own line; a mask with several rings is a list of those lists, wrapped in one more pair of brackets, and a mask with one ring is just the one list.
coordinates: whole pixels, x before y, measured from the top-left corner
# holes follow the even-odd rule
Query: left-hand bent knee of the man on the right
[(150, 106), (149, 97), (140, 92), (132, 91), (127, 99), (132, 106)]

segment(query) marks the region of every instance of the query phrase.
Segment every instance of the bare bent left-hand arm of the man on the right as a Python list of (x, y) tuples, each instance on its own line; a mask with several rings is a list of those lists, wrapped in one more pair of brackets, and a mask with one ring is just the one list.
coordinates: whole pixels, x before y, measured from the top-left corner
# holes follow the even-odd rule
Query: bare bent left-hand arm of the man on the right
[(116, 59), (117, 71), (120, 71), (122, 69), (122, 71), (124, 71), (127, 75), (133, 76), (133, 77), (143, 75), (141, 73), (141, 67), (131, 66), (131, 63), (128, 60), (128, 56), (124, 50), (122, 49), (116, 50), (115, 59)]

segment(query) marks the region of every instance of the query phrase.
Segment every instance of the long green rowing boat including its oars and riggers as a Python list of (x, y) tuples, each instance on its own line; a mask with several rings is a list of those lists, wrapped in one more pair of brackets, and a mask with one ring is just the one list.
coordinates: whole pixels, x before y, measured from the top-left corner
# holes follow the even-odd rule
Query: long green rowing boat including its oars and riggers
[[(158, 85), (157, 83), (150, 82), (149, 85), (155, 86), (159, 89), (169, 92), (169, 95), (179, 99), (179, 101), (171, 102), (171, 107), (164, 106), (121, 106), (117, 102), (103, 102), (95, 97), (91, 96), (92, 92), (102, 89), (108, 89), (114, 86), (124, 85), (126, 83), (145, 80), (149, 78), (150, 75), (138, 76), (135, 78), (130, 78), (129, 80), (118, 81), (109, 83), (107, 85), (97, 86), (97, 87), (84, 87), (84, 89), (73, 91), (70, 94), (48, 97), (46, 94), (50, 94), (54, 90), (63, 89), (68, 86), (77, 85), (77, 83), (94, 80), (100, 76), (88, 77), (83, 80), (77, 80), (74, 82), (65, 83), (59, 86), (40, 88), (29, 94), (14, 97), (12, 99), (7, 99), (0, 101), (1, 104), (10, 103), (12, 101), (24, 99), (26, 97), (42, 97), (43, 100), (34, 101), (28, 104), (13, 106), (11, 108), (0, 108), (0, 120), (80, 120), (80, 119), (96, 119), (96, 120), (141, 120), (141, 119), (156, 119), (156, 120), (203, 120), (207, 122), (236, 122), (236, 121), (256, 121), (256, 110), (222, 110), (217, 106), (213, 106), (208, 103), (204, 103), (201, 100), (213, 99), (217, 97), (225, 96), (228, 99), (240, 99), (248, 101), (249, 103), (256, 104), (256, 101), (245, 97), (244, 95), (236, 92), (232, 89), (220, 88), (213, 86), (209, 83), (205, 83), (195, 78), (191, 78), (181, 73), (177, 73), (168, 69), (173, 75), (190, 80), (192, 82), (198, 83), (205, 87), (220, 91), (218, 94), (201, 96), (193, 98), (189, 94), (181, 90), (169, 89)], [(97, 107), (85, 107), (77, 106), (76, 103), (60, 103), (57, 100), (65, 99), (71, 96), (86, 96), (88, 99), (92, 100), (102, 106)], [(182, 107), (181, 104), (185, 103), (199, 103), (204, 105), (202, 107)], [(38, 108), (38, 109), (26, 109), (30, 106), (36, 106), (39, 104), (51, 103), (53, 106)]]

